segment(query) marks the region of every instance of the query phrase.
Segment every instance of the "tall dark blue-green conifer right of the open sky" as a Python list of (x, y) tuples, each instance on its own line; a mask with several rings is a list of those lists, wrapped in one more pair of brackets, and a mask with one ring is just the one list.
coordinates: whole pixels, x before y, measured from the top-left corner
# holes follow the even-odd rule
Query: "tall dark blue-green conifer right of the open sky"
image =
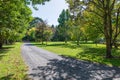
[(54, 37), (58, 40), (67, 41), (69, 38), (69, 25), (67, 24), (68, 20), (70, 19), (70, 13), (68, 10), (63, 10), (59, 15), (58, 22), (59, 25), (56, 27), (56, 33)]

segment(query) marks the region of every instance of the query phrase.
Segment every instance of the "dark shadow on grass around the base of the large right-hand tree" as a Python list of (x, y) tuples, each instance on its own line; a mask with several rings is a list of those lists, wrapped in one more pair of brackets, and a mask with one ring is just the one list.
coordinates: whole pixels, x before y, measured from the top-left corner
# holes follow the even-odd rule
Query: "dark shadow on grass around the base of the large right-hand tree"
[(112, 59), (106, 59), (106, 49), (105, 48), (83, 48), (83, 51), (78, 53), (76, 57), (78, 59), (83, 59), (83, 60), (88, 60), (92, 62), (98, 62), (102, 64), (107, 64), (111, 66), (120, 66), (120, 54), (118, 50), (113, 49), (112, 50), (112, 55), (114, 58)]

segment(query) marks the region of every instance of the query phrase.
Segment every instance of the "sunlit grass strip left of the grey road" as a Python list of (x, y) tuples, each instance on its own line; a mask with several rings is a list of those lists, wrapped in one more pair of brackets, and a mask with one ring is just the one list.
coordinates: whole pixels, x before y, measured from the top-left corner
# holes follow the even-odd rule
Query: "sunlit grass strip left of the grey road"
[(0, 50), (0, 80), (26, 80), (27, 67), (20, 54), (21, 45), (5, 45)]

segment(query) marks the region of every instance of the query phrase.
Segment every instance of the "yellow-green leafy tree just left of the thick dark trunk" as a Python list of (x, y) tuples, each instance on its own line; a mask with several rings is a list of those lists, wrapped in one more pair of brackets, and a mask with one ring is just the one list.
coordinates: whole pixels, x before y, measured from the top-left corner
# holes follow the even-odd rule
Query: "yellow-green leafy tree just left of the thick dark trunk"
[(95, 14), (84, 11), (85, 25), (83, 35), (87, 36), (89, 40), (97, 43), (100, 38), (103, 38), (103, 24), (101, 19)]

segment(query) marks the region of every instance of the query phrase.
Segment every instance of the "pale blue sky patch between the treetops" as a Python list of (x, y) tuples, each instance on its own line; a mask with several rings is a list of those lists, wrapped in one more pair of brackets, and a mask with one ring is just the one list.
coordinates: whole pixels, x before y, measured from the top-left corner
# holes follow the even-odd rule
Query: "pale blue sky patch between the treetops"
[(35, 10), (30, 6), (33, 17), (40, 17), (46, 20), (49, 25), (58, 25), (57, 19), (63, 9), (68, 9), (65, 0), (50, 0), (45, 5), (37, 6), (39, 10)]

